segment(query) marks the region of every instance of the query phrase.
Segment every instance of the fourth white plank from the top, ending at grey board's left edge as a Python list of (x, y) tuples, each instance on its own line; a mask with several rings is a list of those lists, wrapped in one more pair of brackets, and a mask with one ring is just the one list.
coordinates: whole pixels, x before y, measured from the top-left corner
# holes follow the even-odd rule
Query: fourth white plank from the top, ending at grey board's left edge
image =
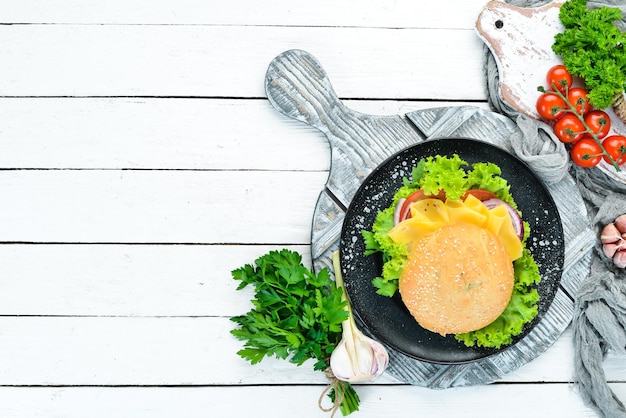
[(0, 172), (0, 241), (308, 244), (327, 172)]

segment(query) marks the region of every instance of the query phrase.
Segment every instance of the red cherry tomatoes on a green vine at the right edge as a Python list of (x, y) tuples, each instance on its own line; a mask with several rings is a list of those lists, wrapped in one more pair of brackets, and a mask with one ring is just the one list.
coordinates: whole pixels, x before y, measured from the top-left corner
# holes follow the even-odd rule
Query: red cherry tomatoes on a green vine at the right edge
[(626, 137), (611, 135), (610, 116), (592, 109), (583, 87), (572, 87), (573, 77), (563, 65), (555, 65), (546, 74), (549, 86), (537, 88), (541, 95), (536, 109), (539, 116), (553, 125), (561, 142), (571, 145), (572, 161), (581, 167), (595, 167), (604, 160), (616, 171), (626, 163)]

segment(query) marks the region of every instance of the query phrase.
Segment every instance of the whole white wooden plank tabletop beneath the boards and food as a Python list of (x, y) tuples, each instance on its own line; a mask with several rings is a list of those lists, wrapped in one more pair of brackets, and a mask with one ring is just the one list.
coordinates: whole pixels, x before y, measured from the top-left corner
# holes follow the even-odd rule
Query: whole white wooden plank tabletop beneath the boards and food
[[(231, 270), (310, 262), (326, 138), (264, 75), (304, 49), (371, 114), (487, 108), (485, 0), (0, 1), (0, 416), (323, 417), (325, 377), (239, 358)], [(534, 88), (529, 86), (529, 88)], [(487, 386), (384, 375), (354, 417), (593, 417), (572, 333)], [(609, 356), (626, 400), (626, 359)]]

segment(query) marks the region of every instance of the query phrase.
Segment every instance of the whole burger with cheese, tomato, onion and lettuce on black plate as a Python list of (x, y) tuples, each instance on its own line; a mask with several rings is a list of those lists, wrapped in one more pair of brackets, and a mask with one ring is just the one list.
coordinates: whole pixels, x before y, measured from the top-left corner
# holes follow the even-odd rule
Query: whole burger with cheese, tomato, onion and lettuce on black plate
[(457, 155), (422, 159), (363, 231), (366, 255), (382, 253), (377, 293), (398, 292), (420, 326), (466, 346), (509, 344), (537, 315), (529, 225), (500, 174)]

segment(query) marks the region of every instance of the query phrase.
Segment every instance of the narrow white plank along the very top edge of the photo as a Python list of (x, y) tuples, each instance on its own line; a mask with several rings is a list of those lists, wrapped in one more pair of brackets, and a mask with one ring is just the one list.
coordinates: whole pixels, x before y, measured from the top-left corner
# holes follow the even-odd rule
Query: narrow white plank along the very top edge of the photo
[[(53, 3), (45, 0), (0, 2), (3, 23), (82, 24), (211, 24), (288, 26), (372, 26), (470, 28), (484, 0), (448, 0), (428, 7), (412, 0), (362, 0), (359, 2), (206, 2), (165, 0)], [(451, 11), (454, 12), (451, 12)]]

